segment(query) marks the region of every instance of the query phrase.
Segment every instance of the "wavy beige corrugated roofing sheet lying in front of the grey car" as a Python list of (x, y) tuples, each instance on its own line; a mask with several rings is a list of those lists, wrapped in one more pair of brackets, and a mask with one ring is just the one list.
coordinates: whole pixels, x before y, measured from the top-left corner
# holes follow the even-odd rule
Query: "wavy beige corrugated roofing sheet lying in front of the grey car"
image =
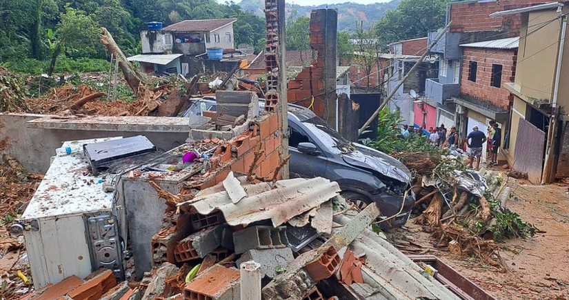
[(246, 226), (270, 219), (272, 225), (277, 227), (292, 217), (319, 207), (340, 192), (338, 183), (321, 177), (279, 180), (275, 188), (266, 182), (250, 184), (245, 177), (240, 177), (239, 181), (247, 197), (237, 203), (231, 201), (223, 184), (218, 184), (200, 191), (194, 199), (178, 206), (193, 207), (200, 214), (221, 210), (230, 226)]

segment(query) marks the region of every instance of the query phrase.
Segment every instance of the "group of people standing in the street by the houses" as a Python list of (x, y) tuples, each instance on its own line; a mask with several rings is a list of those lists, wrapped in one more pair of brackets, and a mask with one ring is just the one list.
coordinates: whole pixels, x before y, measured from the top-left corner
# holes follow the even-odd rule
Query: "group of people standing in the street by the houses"
[[(490, 121), (488, 127), (488, 132), (484, 134), (478, 130), (478, 126), (472, 128), (472, 132), (466, 136), (466, 146), (468, 146), (468, 157), (470, 168), (476, 160), (476, 168), (480, 167), (480, 161), (482, 158), (482, 146), (483, 143), (488, 142), (488, 159), (490, 159), (490, 166), (497, 166), (498, 164), (498, 150), (501, 146), (502, 132), (496, 121)], [(403, 137), (408, 137), (412, 132), (423, 132), (423, 128), (413, 129), (412, 126), (403, 126)], [(459, 134), (455, 126), (450, 127), (450, 132), (447, 132), (445, 125), (437, 128), (429, 128), (428, 133), (429, 143), (432, 146), (440, 148), (450, 148), (450, 150), (455, 150), (459, 148)]]

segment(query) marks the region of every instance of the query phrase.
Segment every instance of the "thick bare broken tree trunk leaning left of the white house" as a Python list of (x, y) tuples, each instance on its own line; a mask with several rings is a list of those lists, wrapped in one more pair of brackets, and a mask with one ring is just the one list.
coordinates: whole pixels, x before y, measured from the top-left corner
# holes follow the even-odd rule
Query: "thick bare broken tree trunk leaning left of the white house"
[(101, 27), (103, 33), (101, 34), (101, 43), (107, 48), (109, 54), (113, 54), (119, 62), (119, 68), (123, 72), (124, 78), (128, 83), (128, 86), (134, 92), (134, 96), (139, 97), (141, 91), (139, 89), (141, 86), (146, 89), (146, 81), (144, 80), (144, 75), (139, 72), (132, 64), (126, 59), (125, 54), (122, 52), (121, 48), (112, 38), (112, 35), (108, 32), (107, 28)]

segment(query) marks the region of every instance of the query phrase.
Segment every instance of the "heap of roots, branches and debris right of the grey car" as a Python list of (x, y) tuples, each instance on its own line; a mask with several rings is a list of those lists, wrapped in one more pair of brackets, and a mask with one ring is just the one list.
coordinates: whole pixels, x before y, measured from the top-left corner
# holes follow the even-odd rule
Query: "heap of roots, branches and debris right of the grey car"
[(508, 210), (510, 188), (501, 177), (486, 170), (467, 170), (457, 157), (443, 157), (412, 189), (419, 214), (415, 223), (437, 237), (437, 246), (448, 247), (453, 254), (475, 256), (505, 268), (497, 241), (526, 239), (537, 230)]

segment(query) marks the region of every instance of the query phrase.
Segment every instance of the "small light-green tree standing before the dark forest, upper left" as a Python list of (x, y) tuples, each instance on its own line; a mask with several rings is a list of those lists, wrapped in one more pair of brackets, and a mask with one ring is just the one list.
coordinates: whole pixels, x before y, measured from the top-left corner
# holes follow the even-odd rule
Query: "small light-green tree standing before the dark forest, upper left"
[(66, 12), (60, 16), (57, 30), (48, 30), (48, 44), (52, 50), (52, 59), (48, 76), (51, 76), (57, 57), (62, 51), (80, 52), (88, 56), (96, 52), (99, 45), (99, 24), (81, 10), (66, 7)]

